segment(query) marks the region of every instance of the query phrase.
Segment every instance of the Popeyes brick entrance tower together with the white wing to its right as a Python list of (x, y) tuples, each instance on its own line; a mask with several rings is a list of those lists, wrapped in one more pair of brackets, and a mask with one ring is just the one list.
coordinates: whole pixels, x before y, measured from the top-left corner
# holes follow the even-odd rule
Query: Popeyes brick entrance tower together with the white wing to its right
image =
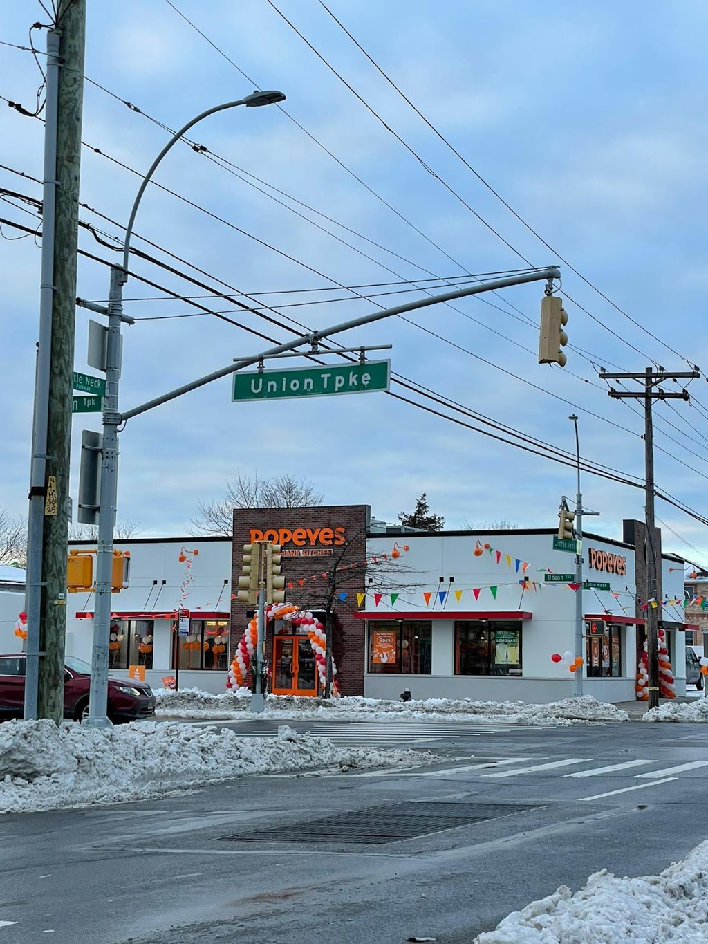
[[(584, 691), (599, 700), (632, 700), (649, 605), (637, 590), (645, 580), (643, 525), (625, 522), (621, 542), (585, 536), (589, 585), (582, 591), (568, 580), (574, 555), (553, 549), (554, 533), (378, 532), (367, 506), (238, 510), (232, 581), (241, 573), (244, 544), (277, 541), (288, 601), (324, 622), (331, 600), (343, 694), (396, 700), (406, 688), (413, 699), (545, 702), (572, 695), (571, 672), (551, 656), (574, 653), (582, 592)], [(661, 584), (660, 626), (683, 694), (681, 558), (662, 556)], [(250, 613), (232, 600), (232, 651)], [(306, 630), (269, 624), (266, 655), (275, 694), (318, 694)]]

